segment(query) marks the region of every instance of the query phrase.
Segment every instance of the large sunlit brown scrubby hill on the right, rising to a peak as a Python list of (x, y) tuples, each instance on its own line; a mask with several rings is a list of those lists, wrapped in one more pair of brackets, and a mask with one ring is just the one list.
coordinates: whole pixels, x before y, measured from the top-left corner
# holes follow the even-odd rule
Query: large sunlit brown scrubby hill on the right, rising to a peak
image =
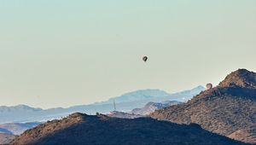
[(239, 69), (187, 103), (151, 114), (178, 124), (196, 123), (207, 131), (256, 143), (256, 73)]

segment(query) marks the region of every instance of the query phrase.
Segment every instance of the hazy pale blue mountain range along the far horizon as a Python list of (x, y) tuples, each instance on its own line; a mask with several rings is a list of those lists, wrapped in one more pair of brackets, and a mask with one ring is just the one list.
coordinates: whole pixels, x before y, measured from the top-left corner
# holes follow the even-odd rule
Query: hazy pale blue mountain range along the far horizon
[(186, 102), (193, 96), (199, 94), (204, 87), (198, 86), (193, 90), (185, 90), (175, 94), (168, 94), (163, 90), (137, 90), (109, 99), (107, 102), (97, 102), (90, 105), (73, 107), (56, 107), (41, 109), (18, 105), (15, 107), (0, 106), (0, 124), (45, 122), (51, 119), (61, 119), (70, 113), (80, 112), (87, 114), (110, 113), (113, 111), (113, 101), (116, 102), (118, 111), (128, 112), (133, 108), (143, 107), (148, 102), (179, 101)]

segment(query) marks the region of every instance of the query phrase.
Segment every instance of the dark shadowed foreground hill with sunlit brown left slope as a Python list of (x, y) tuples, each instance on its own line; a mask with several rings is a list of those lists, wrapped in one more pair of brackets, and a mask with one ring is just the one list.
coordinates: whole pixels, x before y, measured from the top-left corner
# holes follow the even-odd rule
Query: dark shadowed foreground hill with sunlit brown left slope
[(25, 131), (11, 144), (241, 144), (202, 130), (151, 118), (117, 119), (73, 113)]

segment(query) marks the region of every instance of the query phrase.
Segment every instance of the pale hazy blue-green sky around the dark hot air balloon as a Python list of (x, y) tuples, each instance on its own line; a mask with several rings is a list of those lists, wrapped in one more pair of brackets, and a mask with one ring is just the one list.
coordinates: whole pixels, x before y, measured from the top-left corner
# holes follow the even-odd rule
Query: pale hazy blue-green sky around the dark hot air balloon
[(8, 106), (216, 85), (256, 72), (256, 1), (0, 0), (0, 67)]

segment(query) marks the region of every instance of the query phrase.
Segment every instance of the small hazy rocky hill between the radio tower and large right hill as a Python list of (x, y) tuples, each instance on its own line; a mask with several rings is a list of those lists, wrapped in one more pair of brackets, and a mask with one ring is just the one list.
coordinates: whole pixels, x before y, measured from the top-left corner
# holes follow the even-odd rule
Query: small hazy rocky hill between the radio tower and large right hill
[(149, 115), (150, 113), (153, 113), (155, 110), (159, 110), (163, 107), (169, 107), (172, 105), (181, 104), (182, 102), (177, 101), (166, 101), (166, 102), (148, 102), (144, 107), (142, 108), (135, 108), (131, 110), (131, 113), (133, 114), (139, 114), (139, 115)]

